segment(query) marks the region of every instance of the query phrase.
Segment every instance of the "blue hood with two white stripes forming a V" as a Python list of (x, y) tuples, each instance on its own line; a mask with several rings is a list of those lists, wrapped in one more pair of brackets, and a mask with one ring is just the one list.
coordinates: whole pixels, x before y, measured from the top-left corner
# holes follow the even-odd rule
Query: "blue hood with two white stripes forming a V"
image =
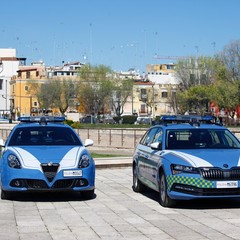
[(8, 147), (6, 153), (14, 153), (25, 168), (38, 168), (42, 163), (61, 163), (68, 168), (77, 166), (84, 149), (83, 146)]

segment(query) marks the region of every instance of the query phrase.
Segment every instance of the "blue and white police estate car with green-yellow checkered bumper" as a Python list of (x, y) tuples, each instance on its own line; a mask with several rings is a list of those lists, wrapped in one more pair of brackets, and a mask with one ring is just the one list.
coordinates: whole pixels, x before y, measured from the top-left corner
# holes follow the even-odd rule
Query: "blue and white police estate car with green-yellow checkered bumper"
[(164, 207), (176, 200), (240, 198), (240, 142), (235, 135), (212, 117), (162, 120), (136, 147), (133, 190), (156, 190)]

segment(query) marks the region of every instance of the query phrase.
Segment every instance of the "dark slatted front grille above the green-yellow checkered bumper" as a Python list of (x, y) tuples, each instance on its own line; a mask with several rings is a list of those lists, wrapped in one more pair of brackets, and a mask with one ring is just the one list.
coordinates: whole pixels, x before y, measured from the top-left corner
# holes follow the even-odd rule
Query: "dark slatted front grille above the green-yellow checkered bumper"
[(206, 180), (240, 180), (240, 168), (223, 170), (220, 168), (200, 168), (201, 176)]

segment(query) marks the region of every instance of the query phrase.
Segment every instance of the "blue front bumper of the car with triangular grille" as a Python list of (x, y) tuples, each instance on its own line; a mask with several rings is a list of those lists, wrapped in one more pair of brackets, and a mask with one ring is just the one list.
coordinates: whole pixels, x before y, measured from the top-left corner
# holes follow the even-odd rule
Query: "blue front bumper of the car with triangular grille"
[[(74, 169), (71, 169), (74, 170)], [(79, 170), (79, 169), (75, 169)], [(49, 181), (43, 172), (29, 169), (11, 169), (1, 176), (5, 191), (86, 191), (94, 189), (95, 169), (82, 169), (81, 176), (64, 177), (63, 171)]]

